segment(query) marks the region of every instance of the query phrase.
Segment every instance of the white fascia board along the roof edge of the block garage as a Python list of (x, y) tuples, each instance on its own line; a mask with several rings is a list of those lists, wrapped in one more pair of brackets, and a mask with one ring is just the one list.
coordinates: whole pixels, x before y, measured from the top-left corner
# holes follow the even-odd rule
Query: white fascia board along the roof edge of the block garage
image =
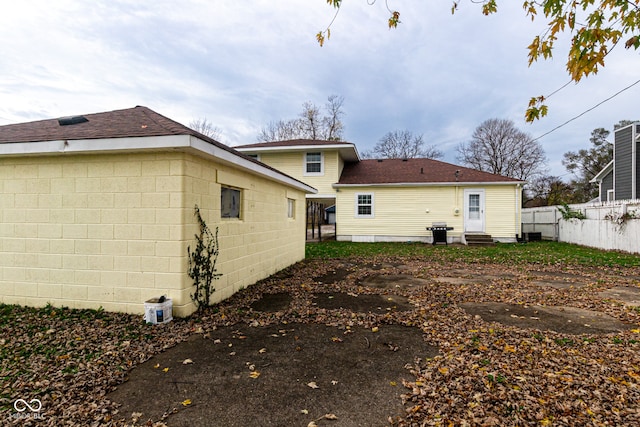
[(0, 144), (0, 156), (59, 155), (65, 153), (91, 154), (105, 152), (154, 151), (154, 150), (195, 150), (221, 161), (297, 188), (305, 193), (315, 194), (315, 188), (260, 166), (232, 152), (209, 144), (191, 135), (145, 136), (136, 138), (105, 138), (54, 140), (39, 142), (17, 142)]

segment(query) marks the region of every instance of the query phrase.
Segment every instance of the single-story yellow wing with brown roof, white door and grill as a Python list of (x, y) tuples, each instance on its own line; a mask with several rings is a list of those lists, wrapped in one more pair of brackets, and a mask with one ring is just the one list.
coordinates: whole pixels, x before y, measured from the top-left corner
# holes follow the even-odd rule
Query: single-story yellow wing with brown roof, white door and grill
[(432, 159), (363, 160), (334, 185), (336, 238), (432, 242), (427, 227), (446, 224), (449, 242), (467, 234), (516, 241), (524, 182)]

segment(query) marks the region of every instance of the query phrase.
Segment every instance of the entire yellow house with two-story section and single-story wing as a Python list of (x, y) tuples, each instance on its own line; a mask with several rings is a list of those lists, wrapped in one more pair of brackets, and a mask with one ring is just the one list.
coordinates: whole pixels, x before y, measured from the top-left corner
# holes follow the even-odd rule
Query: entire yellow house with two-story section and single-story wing
[[(361, 160), (335, 141), (282, 141), (236, 147), (318, 188), (335, 204), (336, 239), (432, 242), (446, 223), (449, 242), (467, 234), (516, 241), (523, 181), (433, 159)], [(332, 199), (333, 198), (333, 199)]]

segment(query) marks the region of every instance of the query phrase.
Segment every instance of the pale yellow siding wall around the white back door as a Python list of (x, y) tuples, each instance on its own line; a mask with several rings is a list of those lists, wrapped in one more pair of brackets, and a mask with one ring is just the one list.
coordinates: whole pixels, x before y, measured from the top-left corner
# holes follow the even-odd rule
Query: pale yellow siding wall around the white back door
[[(336, 198), (337, 239), (346, 241), (431, 241), (426, 230), (434, 222), (453, 227), (448, 236), (464, 233), (464, 190), (485, 190), (486, 233), (512, 241), (520, 229), (514, 207), (520, 198), (512, 185), (494, 186), (356, 186), (341, 187)], [(357, 217), (357, 194), (373, 194), (373, 215)], [(520, 209), (516, 209), (520, 212)]]

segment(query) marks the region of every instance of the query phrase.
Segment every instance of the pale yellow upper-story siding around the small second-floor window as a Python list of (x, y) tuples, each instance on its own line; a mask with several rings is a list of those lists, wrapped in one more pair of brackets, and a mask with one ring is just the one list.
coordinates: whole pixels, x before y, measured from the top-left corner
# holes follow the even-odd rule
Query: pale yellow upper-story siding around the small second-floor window
[[(322, 174), (305, 174), (307, 152), (322, 153)], [(318, 194), (310, 197), (334, 195), (335, 190), (332, 185), (340, 180), (340, 174), (344, 167), (344, 161), (337, 150), (322, 150), (321, 147), (296, 152), (264, 152), (260, 153), (260, 161), (316, 188)]]

